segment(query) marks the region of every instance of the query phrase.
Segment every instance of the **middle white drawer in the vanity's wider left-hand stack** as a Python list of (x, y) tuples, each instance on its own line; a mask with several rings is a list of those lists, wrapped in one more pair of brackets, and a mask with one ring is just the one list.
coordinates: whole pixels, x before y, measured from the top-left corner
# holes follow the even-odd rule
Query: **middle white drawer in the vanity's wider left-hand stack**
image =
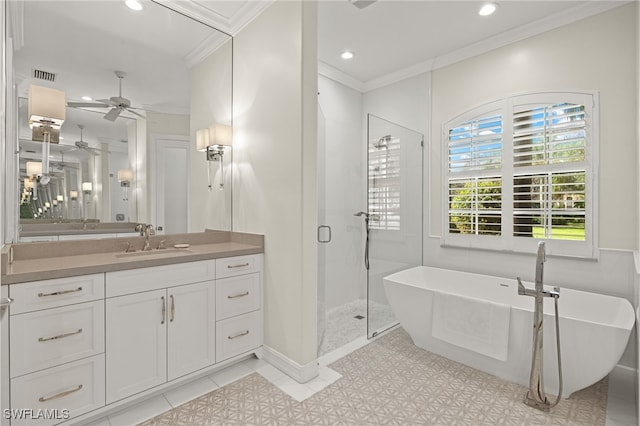
[(11, 317), (11, 377), (104, 352), (102, 300)]

